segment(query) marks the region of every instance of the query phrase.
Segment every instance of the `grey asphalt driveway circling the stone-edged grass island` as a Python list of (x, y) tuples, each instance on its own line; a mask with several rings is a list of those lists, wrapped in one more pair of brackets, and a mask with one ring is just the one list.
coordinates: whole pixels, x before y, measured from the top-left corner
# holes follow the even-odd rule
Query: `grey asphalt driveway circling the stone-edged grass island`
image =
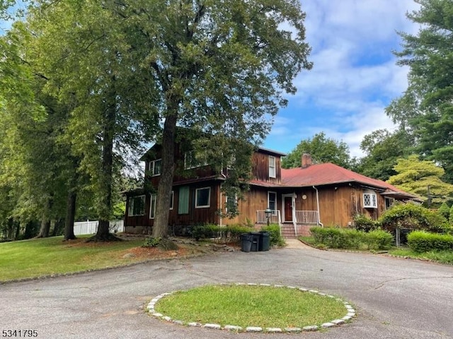
[[(348, 300), (357, 318), (316, 333), (235, 334), (143, 311), (156, 295), (207, 283), (309, 287)], [(311, 248), (222, 253), (0, 285), (0, 325), (0, 337), (34, 329), (35, 338), (453, 338), (453, 267)]]

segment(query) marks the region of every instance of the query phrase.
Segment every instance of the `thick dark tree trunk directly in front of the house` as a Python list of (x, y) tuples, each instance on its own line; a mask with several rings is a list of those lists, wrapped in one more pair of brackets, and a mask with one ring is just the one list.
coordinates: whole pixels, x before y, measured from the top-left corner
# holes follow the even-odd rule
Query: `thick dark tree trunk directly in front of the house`
[(175, 172), (175, 134), (178, 121), (178, 103), (171, 110), (164, 123), (162, 136), (162, 170), (156, 198), (153, 237), (166, 237), (168, 234), (168, 211), (170, 210), (171, 189)]

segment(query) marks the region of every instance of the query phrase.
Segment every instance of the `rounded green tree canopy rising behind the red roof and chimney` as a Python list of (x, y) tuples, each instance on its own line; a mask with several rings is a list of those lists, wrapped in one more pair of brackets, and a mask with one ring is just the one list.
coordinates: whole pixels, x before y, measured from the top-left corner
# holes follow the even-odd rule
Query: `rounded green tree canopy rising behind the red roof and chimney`
[(313, 138), (302, 140), (294, 150), (283, 158), (282, 167), (300, 167), (304, 153), (310, 153), (314, 163), (332, 162), (338, 166), (350, 168), (351, 159), (348, 144), (344, 141), (327, 138), (324, 132), (315, 134)]

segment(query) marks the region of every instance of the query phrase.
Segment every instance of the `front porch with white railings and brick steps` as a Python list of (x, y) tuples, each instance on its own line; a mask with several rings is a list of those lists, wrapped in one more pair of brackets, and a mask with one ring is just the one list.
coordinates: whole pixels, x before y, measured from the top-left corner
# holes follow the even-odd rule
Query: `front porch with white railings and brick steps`
[[(292, 215), (286, 215), (282, 220), (280, 210), (273, 210), (269, 217), (265, 210), (256, 211), (256, 224), (280, 225), (280, 232), (284, 238), (297, 238), (301, 235), (309, 235), (310, 227), (319, 225), (319, 213), (317, 210), (294, 210)], [(269, 220), (268, 220), (269, 218)]]

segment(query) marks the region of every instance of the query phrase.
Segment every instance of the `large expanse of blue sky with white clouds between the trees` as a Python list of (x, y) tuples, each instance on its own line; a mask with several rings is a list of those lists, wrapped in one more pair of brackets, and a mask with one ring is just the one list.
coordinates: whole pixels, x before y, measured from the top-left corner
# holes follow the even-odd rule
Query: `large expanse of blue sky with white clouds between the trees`
[(300, 141), (323, 131), (344, 141), (352, 156), (377, 129), (395, 128), (384, 109), (407, 87), (408, 69), (396, 66), (396, 31), (418, 31), (406, 12), (413, 0), (301, 0), (311, 71), (302, 71), (296, 95), (280, 109), (263, 147), (289, 153)]

